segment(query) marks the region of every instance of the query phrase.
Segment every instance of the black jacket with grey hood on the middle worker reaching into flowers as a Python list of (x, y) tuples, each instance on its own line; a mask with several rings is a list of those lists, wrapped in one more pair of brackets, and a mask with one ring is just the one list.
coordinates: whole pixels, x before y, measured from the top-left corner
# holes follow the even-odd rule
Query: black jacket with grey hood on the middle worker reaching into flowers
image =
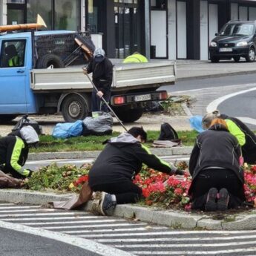
[(174, 174), (176, 171), (173, 166), (151, 154), (131, 134), (120, 134), (108, 142), (93, 163), (89, 171), (89, 185), (93, 187), (132, 180), (142, 168), (142, 163), (166, 174)]

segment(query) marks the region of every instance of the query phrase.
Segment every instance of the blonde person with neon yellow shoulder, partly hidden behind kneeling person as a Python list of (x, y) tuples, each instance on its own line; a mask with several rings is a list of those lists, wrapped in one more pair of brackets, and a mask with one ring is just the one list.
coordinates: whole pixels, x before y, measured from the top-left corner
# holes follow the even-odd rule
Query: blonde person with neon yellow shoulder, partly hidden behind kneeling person
[(237, 138), (244, 158), (244, 162), (249, 164), (256, 163), (256, 136), (255, 134), (240, 120), (226, 114), (220, 114), (215, 110), (203, 116), (203, 128), (209, 128), (211, 121), (215, 118), (224, 119), (229, 128), (229, 132)]

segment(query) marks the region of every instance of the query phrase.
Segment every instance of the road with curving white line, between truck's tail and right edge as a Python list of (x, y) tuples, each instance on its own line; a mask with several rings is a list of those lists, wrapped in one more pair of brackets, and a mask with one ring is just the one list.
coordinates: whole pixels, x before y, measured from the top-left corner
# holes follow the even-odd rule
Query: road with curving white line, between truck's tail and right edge
[(173, 95), (193, 98), (188, 108), (192, 115), (203, 116), (206, 112), (219, 109), (221, 113), (238, 117), (249, 128), (256, 130), (256, 74), (178, 81), (168, 90)]

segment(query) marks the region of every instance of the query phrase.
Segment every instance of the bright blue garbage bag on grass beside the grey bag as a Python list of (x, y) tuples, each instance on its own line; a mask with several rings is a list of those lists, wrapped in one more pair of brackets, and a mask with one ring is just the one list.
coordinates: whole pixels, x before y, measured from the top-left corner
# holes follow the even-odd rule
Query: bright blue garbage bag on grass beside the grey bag
[(57, 123), (53, 128), (54, 138), (66, 139), (82, 135), (82, 120), (76, 122)]

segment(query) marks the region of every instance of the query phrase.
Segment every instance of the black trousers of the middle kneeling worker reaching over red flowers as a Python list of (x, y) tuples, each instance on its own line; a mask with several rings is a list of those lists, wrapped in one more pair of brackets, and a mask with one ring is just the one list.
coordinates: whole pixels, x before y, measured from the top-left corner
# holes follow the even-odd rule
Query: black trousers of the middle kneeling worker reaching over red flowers
[(108, 183), (92, 186), (93, 191), (104, 191), (116, 196), (116, 203), (136, 203), (142, 197), (142, 189), (131, 180), (121, 183)]

